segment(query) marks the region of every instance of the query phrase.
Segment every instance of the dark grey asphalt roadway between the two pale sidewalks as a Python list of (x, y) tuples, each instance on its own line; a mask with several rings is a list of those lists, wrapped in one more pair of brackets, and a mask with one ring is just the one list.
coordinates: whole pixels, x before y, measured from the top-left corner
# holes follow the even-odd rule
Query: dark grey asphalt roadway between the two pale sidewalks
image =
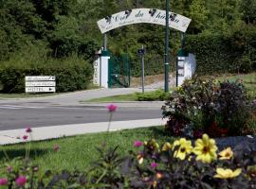
[[(113, 121), (161, 118), (160, 107), (119, 107)], [(106, 122), (105, 106), (13, 106), (0, 105), (0, 130), (24, 129), (68, 124)]]

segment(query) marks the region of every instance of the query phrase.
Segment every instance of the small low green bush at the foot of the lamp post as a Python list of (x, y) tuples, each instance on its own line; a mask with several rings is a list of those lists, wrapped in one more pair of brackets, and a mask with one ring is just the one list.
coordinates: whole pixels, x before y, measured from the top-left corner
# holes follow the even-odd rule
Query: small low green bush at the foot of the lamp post
[(163, 90), (156, 90), (154, 92), (146, 92), (144, 94), (137, 93), (138, 101), (155, 101), (167, 99), (167, 94)]

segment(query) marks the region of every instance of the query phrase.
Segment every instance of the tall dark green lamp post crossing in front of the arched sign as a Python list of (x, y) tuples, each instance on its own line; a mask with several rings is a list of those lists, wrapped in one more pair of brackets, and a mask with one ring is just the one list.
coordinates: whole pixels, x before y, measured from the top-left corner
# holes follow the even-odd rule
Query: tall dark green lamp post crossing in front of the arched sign
[(167, 93), (169, 91), (169, 0), (166, 0), (166, 30), (165, 30), (165, 62), (164, 62), (164, 92)]

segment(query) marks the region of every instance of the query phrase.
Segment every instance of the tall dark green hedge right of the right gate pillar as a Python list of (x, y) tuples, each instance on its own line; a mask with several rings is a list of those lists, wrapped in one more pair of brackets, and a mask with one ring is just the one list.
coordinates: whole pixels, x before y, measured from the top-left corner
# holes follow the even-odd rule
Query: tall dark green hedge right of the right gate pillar
[(185, 48), (196, 56), (197, 75), (256, 70), (256, 28), (229, 35), (188, 35)]

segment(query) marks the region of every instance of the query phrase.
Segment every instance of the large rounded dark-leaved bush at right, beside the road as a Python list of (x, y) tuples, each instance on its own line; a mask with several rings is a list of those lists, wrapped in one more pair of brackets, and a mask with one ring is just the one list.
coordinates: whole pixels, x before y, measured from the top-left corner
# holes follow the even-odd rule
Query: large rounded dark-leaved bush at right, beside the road
[(203, 133), (212, 137), (250, 133), (256, 108), (241, 81), (194, 77), (170, 94), (162, 110), (172, 135), (198, 138)]

